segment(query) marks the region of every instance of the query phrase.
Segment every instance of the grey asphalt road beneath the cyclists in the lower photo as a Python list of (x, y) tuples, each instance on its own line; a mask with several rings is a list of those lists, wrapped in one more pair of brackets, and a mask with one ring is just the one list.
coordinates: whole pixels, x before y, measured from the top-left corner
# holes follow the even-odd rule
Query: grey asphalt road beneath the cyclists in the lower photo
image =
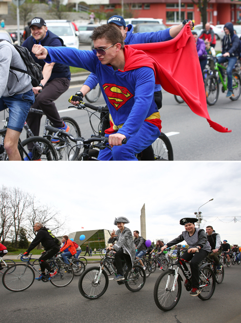
[(207, 301), (191, 297), (183, 287), (177, 306), (169, 312), (159, 310), (153, 298), (155, 281), (162, 272), (159, 270), (136, 293), (110, 280), (106, 293), (95, 300), (79, 293), (78, 277), (62, 289), (49, 282), (34, 281), (28, 290), (19, 293), (0, 284), (1, 322), (240, 323), (240, 271), (237, 264), (225, 267), (224, 281), (216, 284), (212, 298)]

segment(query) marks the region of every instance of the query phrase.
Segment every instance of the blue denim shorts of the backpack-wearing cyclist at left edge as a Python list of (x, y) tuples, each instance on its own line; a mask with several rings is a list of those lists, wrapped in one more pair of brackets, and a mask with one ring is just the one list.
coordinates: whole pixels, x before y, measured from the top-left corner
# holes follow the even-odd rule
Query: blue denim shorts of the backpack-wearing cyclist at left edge
[(29, 109), (34, 103), (34, 100), (32, 89), (26, 93), (0, 98), (0, 111), (9, 109), (9, 129), (22, 132)]

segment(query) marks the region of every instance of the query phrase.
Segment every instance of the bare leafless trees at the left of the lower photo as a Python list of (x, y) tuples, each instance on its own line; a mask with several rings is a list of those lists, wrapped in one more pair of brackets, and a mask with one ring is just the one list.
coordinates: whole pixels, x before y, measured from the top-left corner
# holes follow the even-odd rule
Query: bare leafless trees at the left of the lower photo
[(35, 237), (33, 225), (43, 223), (55, 235), (65, 224), (65, 219), (54, 207), (42, 204), (34, 195), (16, 187), (0, 188), (0, 241), (11, 241), (14, 248), (26, 248)]

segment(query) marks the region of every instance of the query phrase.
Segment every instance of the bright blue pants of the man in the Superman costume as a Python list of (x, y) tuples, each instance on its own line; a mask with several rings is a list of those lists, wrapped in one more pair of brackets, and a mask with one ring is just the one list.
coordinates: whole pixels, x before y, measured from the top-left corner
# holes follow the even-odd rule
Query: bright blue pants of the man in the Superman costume
[(125, 145), (99, 151), (98, 160), (137, 160), (135, 155), (149, 147), (159, 136), (157, 126), (145, 121), (137, 134)]

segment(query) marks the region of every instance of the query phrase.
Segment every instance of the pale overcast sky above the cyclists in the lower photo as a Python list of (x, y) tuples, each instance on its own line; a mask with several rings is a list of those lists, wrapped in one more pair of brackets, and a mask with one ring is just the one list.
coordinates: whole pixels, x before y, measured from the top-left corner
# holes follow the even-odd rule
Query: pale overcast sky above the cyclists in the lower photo
[[(0, 185), (18, 187), (66, 217), (63, 234), (117, 230), (125, 216), (140, 231), (145, 204), (147, 239), (171, 241), (179, 220), (202, 212), (222, 241), (241, 245), (240, 162), (2, 162)], [(234, 218), (236, 217), (236, 222)], [(84, 227), (84, 229), (81, 229)]]

